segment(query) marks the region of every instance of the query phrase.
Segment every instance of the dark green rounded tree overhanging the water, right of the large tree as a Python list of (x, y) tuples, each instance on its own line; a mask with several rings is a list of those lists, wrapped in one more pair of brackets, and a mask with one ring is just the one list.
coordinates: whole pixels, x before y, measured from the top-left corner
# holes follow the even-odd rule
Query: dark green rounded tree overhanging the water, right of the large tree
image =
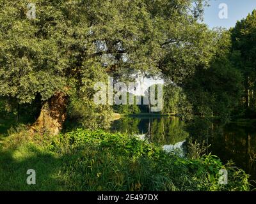
[(230, 61), (230, 34), (219, 31), (218, 52), (208, 69), (198, 67), (186, 81), (184, 90), (199, 117), (230, 120), (230, 113), (238, 105), (243, 92), (243, 77)]

